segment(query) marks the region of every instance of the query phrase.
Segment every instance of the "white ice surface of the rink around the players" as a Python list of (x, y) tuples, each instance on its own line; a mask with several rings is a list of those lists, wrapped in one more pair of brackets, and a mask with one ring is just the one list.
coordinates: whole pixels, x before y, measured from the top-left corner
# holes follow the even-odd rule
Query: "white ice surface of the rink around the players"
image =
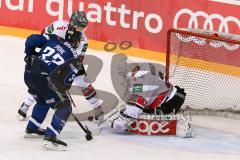
[[(42, 139), (23, 138), (27, 122), (16, 120), (17, 109), (26, 93), (23, 81), (24, 39), (0, 36), (0, 42), (0, 160), (240, 159), (239, 120), (203, 116), (193, 117), (197, 126), (197, 136), (193, 139), (117, 134), (104, 128), (101, 135), (88, 142), (78, 125), (68, 122), (59, 137), (68, 143), (68, 151), (46, 151), (41, 147)], [(110, 81), (112, 54), (90, 49), (88, 54), (104, 59), (94, 87), (115, 94), (111, 85), (103, 86), (101, 83)], [(43, 126), (47, 126), (49, 121), (48, 118)]]

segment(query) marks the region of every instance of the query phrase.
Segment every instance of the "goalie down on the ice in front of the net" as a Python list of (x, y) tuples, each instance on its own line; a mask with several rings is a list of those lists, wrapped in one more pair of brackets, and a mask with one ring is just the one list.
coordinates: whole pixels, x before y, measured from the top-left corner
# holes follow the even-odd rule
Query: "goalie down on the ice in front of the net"
[[(132, 65), (130, 72), (127, 73), (126, 80), (128, 100), (118, 117), (110, 120), (113, 129), (130, 131), (131, 124), (134, 121), (136, 122), (143, 113), (145, 115), (175, 115), (184, 103), (186, 97), (184, 89), (165, 81), (160, 68), (151, 63)], [(140, 118), (142, 128), (140, 123), (135, 124), (133, 133), (136, 133), (135, 131), (139, 128), (140, 131), (145, 132), (147, 130), (148, 132), (150, 129), (147, 128), (153, 125), (160, 128), (162, 124), (158, 125), (159, 121), (155, 120), (156, 117), (152, 117), (154, 116), (150, 116), (150, 119)], [(153, 121), (153, 123), (149, 124), (150, 121)], [(179, 119), (174, 127), (175, 135), (180, 137), (192, 136), (192, 128), (187, 119)], [(157, 135), (156, 130), (153, 131), (154, 135)], [(151, 135), (151, 133), (145, 134), (143, 132), (141, 134)]]

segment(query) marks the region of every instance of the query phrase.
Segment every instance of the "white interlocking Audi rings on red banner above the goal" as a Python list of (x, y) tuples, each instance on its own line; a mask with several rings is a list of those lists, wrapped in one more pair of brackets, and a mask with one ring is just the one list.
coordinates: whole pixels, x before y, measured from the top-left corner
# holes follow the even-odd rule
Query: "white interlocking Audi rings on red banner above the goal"
[(219, 20), (220, 25), (218, 27), (218, 32), (229, 33), (229, 23), (235, 23), (238, 28), (240, 28), (240, 20), (233, 16), (223, 17), (220, 14), (207, 14), (203, 11), (193, 12), (190, 9), (184, 8), (178, 11), (174, 17), (173, 27), (178, 28), (179, 18), (183, 15), (189, 15), (190, 19), (188, 21), (188, 28), (199, 28), (198, 17), (203, 17), (205, 19), (203, 23), (204, 30), (214, 30), (213, 20)]

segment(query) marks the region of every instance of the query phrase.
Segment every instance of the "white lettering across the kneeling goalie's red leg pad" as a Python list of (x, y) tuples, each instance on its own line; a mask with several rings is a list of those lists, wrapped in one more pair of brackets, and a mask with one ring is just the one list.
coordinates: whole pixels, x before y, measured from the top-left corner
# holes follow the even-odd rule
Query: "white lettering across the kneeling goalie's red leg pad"
[[(139, 131), (141, 133), (147, 133), (148, 135), (157, 133), (167, 133), (169, 128), (165, 128), (169, 122), (167, 121), (146, 121), (146, 120), (135, 120), (130, 130)], [(165, 128), (165, 129), (164, 129)]]

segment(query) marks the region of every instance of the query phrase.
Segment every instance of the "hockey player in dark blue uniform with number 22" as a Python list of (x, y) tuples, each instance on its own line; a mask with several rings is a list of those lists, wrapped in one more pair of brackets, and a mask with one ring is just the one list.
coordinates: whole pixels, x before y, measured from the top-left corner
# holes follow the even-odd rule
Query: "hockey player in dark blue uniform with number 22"
[[(36, 104), (26, 127), (26, 137), (44, 136), (45, 148), (66, 150), (67, 144), (57, 138), (72, 112), (66, 95), (73, 79), (85, 74), (82, 61), (75, 47), (81, 39), (81, 32), (72, 27), (65, 40), (56, 35), (29, 36), (25, 43), (24, 81)], [(41, 48), (40, 52), (35, 52)], [(55, 113), (51, 124), (41, 128), (48, 110)]]

